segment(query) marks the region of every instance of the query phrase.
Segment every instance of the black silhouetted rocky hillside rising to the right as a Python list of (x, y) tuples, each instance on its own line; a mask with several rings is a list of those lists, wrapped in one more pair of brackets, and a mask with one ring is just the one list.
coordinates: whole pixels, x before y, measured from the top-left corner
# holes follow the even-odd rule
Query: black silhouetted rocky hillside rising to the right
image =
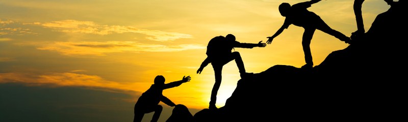
[(365, 36), (311, 71), (275, 65), (240, 79), (225, 106), (195, 121), (387, 120), (406, 103), (406, 0), (377, 16)]

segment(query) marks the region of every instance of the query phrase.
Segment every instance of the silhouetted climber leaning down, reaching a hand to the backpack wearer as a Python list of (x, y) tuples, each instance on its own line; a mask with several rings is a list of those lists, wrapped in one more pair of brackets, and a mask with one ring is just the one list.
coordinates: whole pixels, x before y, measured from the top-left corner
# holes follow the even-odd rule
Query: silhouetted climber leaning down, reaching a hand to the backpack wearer
[(271, 36), (266, 42), (271, 44), (272, 40), (281, 34), (284, 29), (288, 28), (289, 25), (293, 24), (304, 28), (303, 37), (302, 37), (302, 47), (304, 52), (304, 59), (306, 64), (301, 68), (311, 69), (313, 68), (313, 59), (312, 53), (310, 51), (310, 42), (313, 38), (313, 34), (316, 29), (327, 33), (331, 36), (334, 36), (345, 43), (350, 43), (350, 38), (344, 34), (330, 28), (317, 14), (308, 10), (312, 4), (320, 2), (321, 0), (312, 0), (309, 2), (302, 2), (294, 5), (288, 3), (282, 3), (279, 5), (279, 12), (282, 16), (286, 17), (284, 24), (277, 30), (277, 32)]

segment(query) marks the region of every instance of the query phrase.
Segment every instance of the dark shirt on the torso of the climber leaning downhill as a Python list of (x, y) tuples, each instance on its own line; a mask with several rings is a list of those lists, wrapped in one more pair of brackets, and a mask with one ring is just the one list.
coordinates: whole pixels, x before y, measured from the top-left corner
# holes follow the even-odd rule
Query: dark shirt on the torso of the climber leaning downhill
[(312, 4), (310, 2), (302, 2), (292, 5), (288, 15), (286, 15), (283, 27), (288, 28), (291, 24), (301, 27), (307, 25), (313, 26), (313, 22), (316, 22), (316, 19), (320, 19), (320, 17), (314, 12), (308, 10), (311, 6)]

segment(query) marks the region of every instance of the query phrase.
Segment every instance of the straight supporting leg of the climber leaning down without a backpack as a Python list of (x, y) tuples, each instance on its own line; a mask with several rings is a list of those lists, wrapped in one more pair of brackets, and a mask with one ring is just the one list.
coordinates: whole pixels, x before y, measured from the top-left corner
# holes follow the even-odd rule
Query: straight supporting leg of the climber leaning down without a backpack
[(302, 47), (304, 53), (304, 60), (306, 64), (313, 66), (312, 52), (310, 51), (310, 42), (312, 41), (315, 28), (304, 28), (302, 37)]

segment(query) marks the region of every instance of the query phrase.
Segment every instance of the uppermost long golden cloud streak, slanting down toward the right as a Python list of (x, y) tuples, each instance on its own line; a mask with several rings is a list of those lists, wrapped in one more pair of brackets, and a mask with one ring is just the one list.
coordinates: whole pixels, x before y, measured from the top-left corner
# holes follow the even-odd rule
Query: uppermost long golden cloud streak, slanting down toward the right
[(116, 34), (139, 33), (151, 36), (147, 37), (147, 39), (160, 42), (173, 41), (180, 38), (192, 38), (192, 36), (188, 34), (148, 30), (132, 26), (98, 25), (92, 21), (62, 20), (45, 23), (34, 22), (25, 24), (41, 25), (43, 27), (53, 28), (55, 29), (55, 31), (65, 33), (84, 33), (97, 35), (109, 35), (114, 33)]

